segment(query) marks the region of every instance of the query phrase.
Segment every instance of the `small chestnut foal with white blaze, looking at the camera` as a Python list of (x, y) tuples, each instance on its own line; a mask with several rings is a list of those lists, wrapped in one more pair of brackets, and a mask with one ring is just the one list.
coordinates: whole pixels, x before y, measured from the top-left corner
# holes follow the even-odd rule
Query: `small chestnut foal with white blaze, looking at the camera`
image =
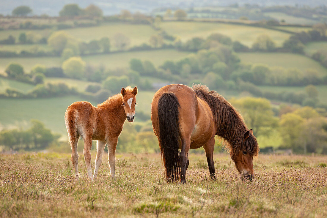
[[(65, 123), (68, 132), (70, 146), (72, 147), (72, 163), (75, 176), (78, 179), (78, 154), (77, 142), (79, 136), (84, 140), (84, 160), (89, 179), (94, 180), (102, 163), (104, 147), (108, 145), (109, 165), (111, 178), (115, 179), (115, 152), (118, 137), (123, 130), (127, 119), (133, 122), (137, 87), (122, 88), (121, 93), (110, 97), (97, 107), (90, 102), (79, 101), (71, 104), (65, 113)], [(96, 143), (96, 159), (94, 175), (91, 170), (91, 146), (92, 140)]]

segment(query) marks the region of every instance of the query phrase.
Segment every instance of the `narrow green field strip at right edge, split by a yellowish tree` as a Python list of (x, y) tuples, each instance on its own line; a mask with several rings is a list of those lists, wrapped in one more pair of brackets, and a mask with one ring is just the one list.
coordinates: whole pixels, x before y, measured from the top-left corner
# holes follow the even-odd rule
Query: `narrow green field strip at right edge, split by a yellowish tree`
[[(262, 91), (269, 92), (305, 92), (304, 86), (258, 86)], [(316, 86), (318, 91), (318, 99), (322, 103), (327, 102), (327, 85), (318, 85)]]

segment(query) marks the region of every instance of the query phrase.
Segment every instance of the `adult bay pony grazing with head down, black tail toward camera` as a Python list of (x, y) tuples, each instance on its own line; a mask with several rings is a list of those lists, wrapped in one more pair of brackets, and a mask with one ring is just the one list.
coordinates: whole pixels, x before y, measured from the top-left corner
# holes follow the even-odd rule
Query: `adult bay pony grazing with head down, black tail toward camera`
[(215, 91), (204, 85), (194, 85), (193, 89), (181, 84), (164, 86), (153, 96), (151, 120), (168, 181), (180, 177), (185, 182), (189, 149), (200, 147), (205, 150), (210, 176), (215, 179), (215, 135), (224, 139), (241, 177), (253, 178), (257, 140), (242, 116)]

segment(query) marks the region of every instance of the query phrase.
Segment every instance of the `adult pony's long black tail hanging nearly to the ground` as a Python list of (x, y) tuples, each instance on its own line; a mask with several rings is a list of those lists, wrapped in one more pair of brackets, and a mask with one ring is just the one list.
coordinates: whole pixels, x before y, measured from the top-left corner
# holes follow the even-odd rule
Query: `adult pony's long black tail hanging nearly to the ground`
[(181, 171), (179, 159), (179, 110), (176, 95), (165, 92), (158, 103), (159, 146), (167, 180), (178, 180)]

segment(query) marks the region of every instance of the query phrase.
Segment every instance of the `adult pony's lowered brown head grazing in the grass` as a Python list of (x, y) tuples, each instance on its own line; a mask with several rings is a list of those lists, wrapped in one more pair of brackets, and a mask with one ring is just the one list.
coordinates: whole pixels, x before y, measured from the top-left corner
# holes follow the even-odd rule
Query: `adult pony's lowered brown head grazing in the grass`
[(244, 133), (242, 138), (242, 146), (231, 152), (231, 158), (235, 163), (236, 169), (242, 179), (253, 179), (253, 156), (257, 156), (259, 146), (256, 138), (253, 135), (253, 130), (250, 129)]

